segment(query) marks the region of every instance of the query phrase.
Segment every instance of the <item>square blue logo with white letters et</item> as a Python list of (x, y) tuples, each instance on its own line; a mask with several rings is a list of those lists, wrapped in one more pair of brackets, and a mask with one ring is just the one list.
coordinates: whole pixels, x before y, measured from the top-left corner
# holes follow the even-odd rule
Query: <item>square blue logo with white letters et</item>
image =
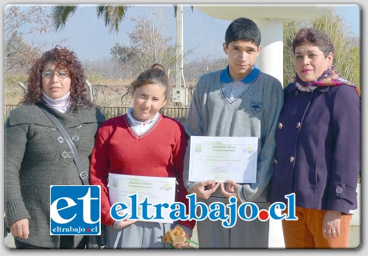
[(100, 210), (100, 186), (50, 186), (51, 235), (100, 234)]

